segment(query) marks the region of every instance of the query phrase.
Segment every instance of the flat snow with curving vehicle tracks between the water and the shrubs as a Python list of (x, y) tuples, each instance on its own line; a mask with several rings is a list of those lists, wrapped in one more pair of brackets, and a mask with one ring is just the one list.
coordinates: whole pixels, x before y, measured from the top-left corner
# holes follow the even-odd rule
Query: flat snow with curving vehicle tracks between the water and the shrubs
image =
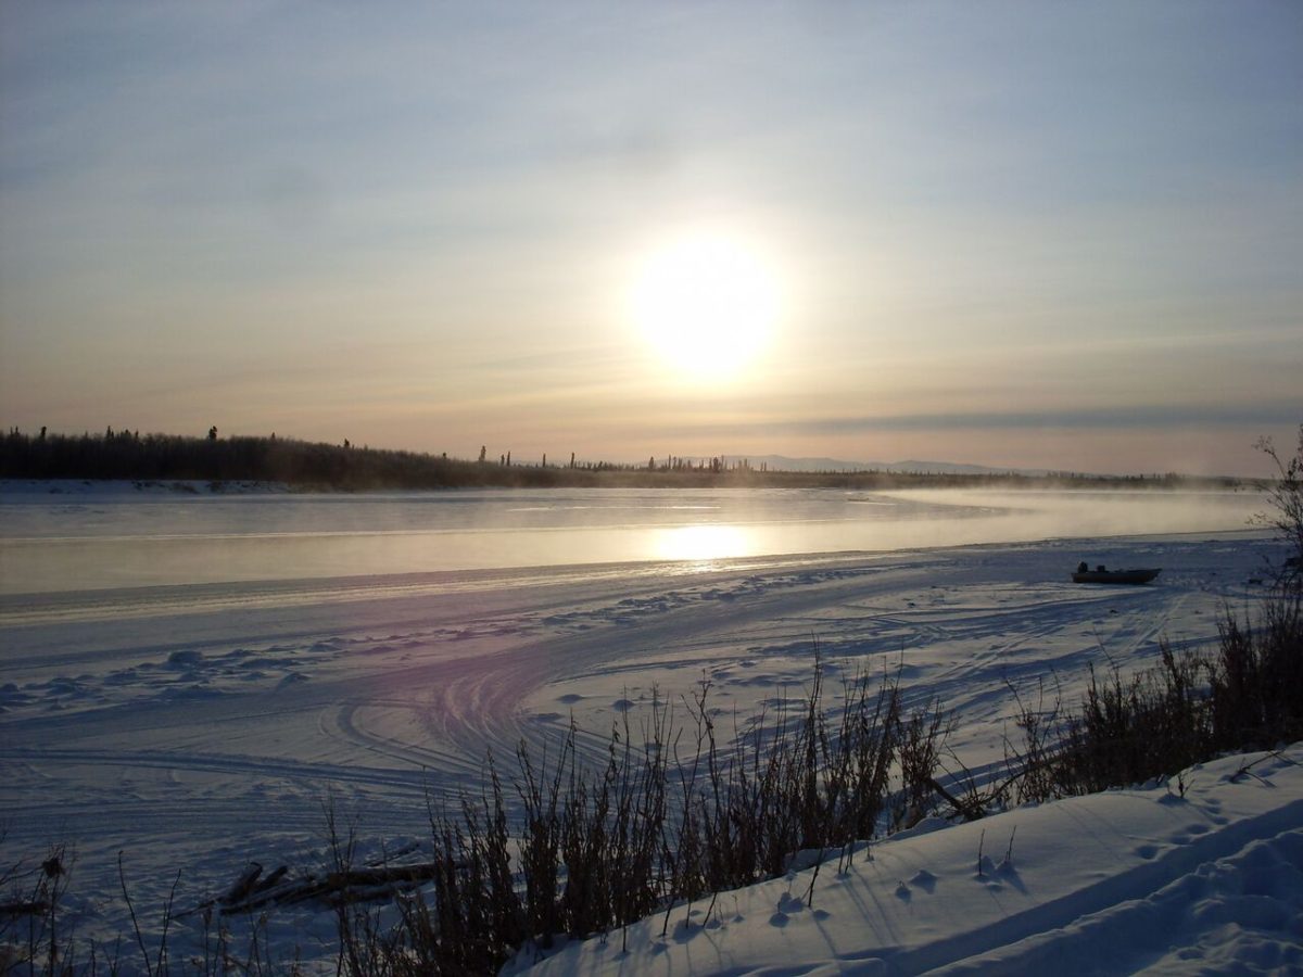
[[(696, 574), (516, 574), (498, 589), (490, 577), (283, 586), (289, 599), (258, 591), (244, 610), (235, 598), (248, 585), (231, 601), (206, 586), (181, 612), (169, 594), (168, 614), (91, 623), (82, 611), (103, 616), (103, 594), (81, 611), (61, 597), (64, 616), (3, 629), (0, 762), (12, 776), (0, 801), (10, 832), (33, 842), (52, 840), (43, 793), (53, 806), (100, 799), (85, 812), (64, 804), (59, 823), (106, 840), (168, 819), (231, 830), (241, 805), (274, 809), (287, 827), (321, 823), (327, 791), (390, 796), (418, 830), (426, 796), (478, 788), (489, 750), (509, 763), (521, 741), (541, 750), (573, 716), (597, 756), (628, 702), (645, 705), (653, 688), (679, 702), (704, 677), (717, 706), (745, 716), (801, 694), (816, 644), (833, 677), (895, 672), (911, 705), (954, 709), (960, 745), (985, 744), (967, 757), (977, 769), (1011, 714), (1006, 683), (1050, 679), (1071, 696), (1092, 663), (1216, 633), (1240, 571), (1220, 576), (1196, 543), (1144, 546), (1171, 569), (1134, 589), (1063, 582), (1075, 550), (1048, 543)], [(1231, 546), (1237, 568), (1259, 546)]]

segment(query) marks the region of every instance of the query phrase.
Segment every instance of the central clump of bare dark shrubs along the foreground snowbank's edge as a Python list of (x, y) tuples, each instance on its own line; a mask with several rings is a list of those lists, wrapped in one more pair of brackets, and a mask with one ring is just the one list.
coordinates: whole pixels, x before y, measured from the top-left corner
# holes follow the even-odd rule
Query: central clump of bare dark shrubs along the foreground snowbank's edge
[(843, 851), (913, 823), (934, 805), (949, 718), (937, 706), (903, 716), (894, 681), (873, 692), (856, 675), (842, 693), (829, 710), (816, 655), (803, 698), (743, 732), (734, 720), (736, 748), (721, 746), (709, 681), (684, 700), (687, 724), (659, 696), (637, 729), (625, 714), (595, 769), (573, 724), (537, 761), (521, 745), (515, 834), (490, 758), (480, 797), (431, 817), (429, 894), (401, 900), (390, 931), (365, 911), (341, 914), (341, 969), (493, 972), (521, 947), (607, 933), (780, 875), (803, 849)]

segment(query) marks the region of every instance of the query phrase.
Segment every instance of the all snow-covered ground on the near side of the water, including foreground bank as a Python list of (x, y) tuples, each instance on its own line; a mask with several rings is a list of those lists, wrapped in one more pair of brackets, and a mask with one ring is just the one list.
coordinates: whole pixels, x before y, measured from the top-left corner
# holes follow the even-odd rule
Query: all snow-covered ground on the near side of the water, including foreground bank
[[(706, 677), (747, 715), (810, 679), (899, 673), (955, 710), (950, 746), (1003, 756), (1009, 685), (1076, 696), (1091, 664), (1212, 642), (1280, 547), (1255, 533), (986, 545), (837, 558), (141, 588), (0, 602), (5, 864), (74, 851), (65, 931), (147, 947), (255, 860), (328, 860), (326, 808), (362, 858), (420, 844), (429, 804), (477, 789), (487, 749), (605, 735)], [(1085, 559), (1162, 567), (1075, 586)], [(1246, 772), (1240, 769), (1256, 763)], [(1303, 967), (1303, 750), (874, 844), (835, 865), (572, 944), (546, 973), (1263, 972)], [(979, 866), (979, 849), (989, 861)], [(1009, 857), (1006, 857), (1009, 856)], [(808, 894), (812, 898), (808, 898)], [(251, 926), (334, 972), (335, 917)], [(173, 960), (199, 914), (175, 918)], [(126, 955), (128, 968), (143, 965)], [(523, 968), (533, 957), (517, 960)]]

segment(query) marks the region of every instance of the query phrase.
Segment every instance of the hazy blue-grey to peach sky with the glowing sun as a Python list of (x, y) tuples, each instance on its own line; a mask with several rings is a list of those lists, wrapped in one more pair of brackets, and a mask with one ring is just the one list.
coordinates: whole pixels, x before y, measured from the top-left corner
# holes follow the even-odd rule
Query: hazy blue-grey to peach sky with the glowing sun
[(1261, 474), (1303, 5), (0, 0), (0, 422)]

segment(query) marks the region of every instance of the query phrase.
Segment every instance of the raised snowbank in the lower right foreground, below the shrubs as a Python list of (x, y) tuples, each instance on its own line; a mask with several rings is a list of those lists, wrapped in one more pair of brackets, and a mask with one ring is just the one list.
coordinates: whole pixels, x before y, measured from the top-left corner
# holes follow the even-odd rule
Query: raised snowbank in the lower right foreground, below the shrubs
[(1227, 757), (1194, 767), (1184, 796), (1141, 786), (893, 838), (529, 972), (1298, 973), (1300, 763), (1299, 748)]

